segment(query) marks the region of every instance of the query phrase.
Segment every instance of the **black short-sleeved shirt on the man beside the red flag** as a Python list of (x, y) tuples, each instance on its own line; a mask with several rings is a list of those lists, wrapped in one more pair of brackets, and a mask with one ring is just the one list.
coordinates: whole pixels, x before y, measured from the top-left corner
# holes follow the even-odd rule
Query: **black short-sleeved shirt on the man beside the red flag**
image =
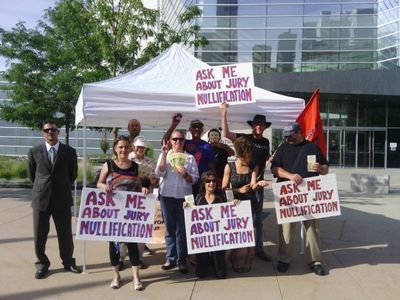
[[(307, 140), (299, 144), (282, 144), (275, 152), (272, 160), (271, 169), (275, 167), (299, 174), (303, 178), (318, 176), (318, 173), (307, 171), (307, 155), (315, 155), (316, 162), (321, 165), (328, 165), (328, 161), (322, 154), (319, 147)], [(287, 181), (289, 179), (278, 177), (278, 182)]]

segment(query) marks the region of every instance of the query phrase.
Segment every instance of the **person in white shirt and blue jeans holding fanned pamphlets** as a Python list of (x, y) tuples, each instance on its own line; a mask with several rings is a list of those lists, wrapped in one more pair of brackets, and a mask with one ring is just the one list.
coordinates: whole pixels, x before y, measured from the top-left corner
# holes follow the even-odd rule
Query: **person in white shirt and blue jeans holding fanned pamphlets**
[[(194, 157), (183, 150), (185, 138), (180, 130), (172, 132), (169, 142), (162, 141), (156, 176), (160, 177), (160, 203), (165, 222), (166, 262), (163, 270), (178, 265), (179, 272), (187, 273), (186, 233), (183, 202), (193, 193), (192, 185), (199, 179)], [(168, 143), (171, 150), (168, 150)]]

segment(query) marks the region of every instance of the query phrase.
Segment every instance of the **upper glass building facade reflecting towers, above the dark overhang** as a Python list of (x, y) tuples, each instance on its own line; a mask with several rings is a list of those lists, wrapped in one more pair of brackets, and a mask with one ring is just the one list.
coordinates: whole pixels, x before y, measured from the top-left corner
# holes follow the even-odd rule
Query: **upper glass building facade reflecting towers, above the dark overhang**
[(209, 44), (195, 50), (208, 64), (249, 62), (255, 73), (399, 67), (398, 0), (163, 1), (177, 25), (189, 5)]

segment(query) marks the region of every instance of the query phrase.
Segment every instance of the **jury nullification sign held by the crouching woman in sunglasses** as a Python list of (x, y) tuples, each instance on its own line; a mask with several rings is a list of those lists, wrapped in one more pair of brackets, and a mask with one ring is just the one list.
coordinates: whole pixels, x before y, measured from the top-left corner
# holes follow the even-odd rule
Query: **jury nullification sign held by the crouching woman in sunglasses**
[(189, 254), (254, 246), (250, 201), (185, 208)]

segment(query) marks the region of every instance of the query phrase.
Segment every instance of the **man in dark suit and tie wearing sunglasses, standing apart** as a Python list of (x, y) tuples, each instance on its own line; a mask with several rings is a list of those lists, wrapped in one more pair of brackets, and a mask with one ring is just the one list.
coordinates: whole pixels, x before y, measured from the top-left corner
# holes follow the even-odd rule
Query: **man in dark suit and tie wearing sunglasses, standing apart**
[(35, 252), (35, 278), (44, 278), (50, 261), (45, 254), (50, 230), (50, 216), (56, 226), (60, 257), (64, 269), (73, 273), (82, 271), (72, 257), (74, 243), (71, 229), (71, 184), (77, 176), (75, 149), (58, 141), (60, 130), (53, 122), (43, 125), (45, 143), (32, 147), (28, 152), (29, 178), (33, 183), (32, 208)]

